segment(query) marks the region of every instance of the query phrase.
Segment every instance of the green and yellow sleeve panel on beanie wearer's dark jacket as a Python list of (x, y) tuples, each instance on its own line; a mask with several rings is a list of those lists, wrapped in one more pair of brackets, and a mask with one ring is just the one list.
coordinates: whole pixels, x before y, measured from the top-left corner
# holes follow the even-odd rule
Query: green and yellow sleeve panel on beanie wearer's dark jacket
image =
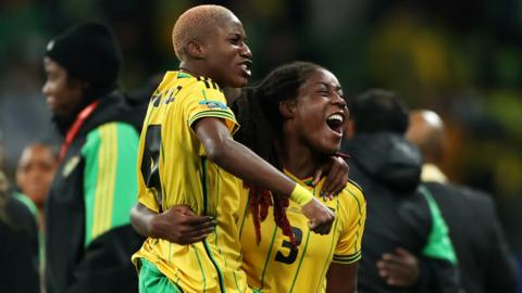
[(130, 222), (137, 202), (138, 133), (123, 123), (108, 123), (87, 135), (85, 157), (85, 245), (105, 231)]

